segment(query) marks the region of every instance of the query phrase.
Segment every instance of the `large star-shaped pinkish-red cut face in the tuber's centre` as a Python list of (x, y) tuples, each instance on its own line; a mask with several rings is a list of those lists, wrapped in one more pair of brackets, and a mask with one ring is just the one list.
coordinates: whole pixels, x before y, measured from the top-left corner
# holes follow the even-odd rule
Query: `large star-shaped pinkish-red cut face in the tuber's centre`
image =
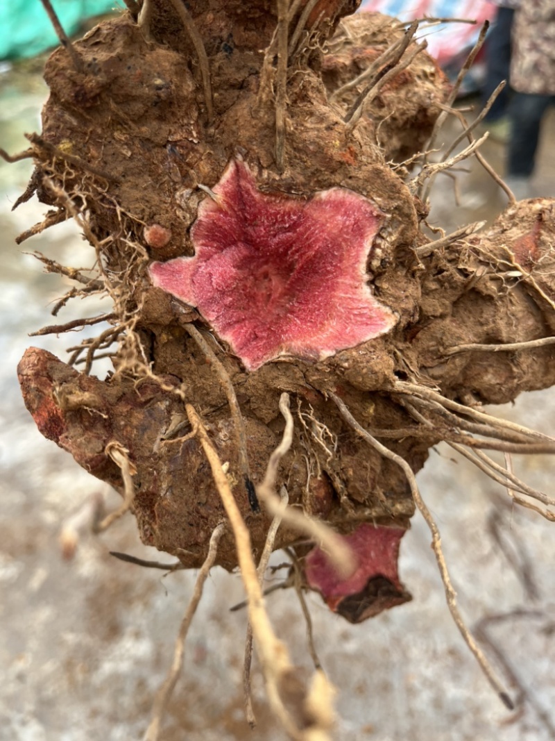
[(154, 262), (155, 286), (198, 308), (249, 371), (280, 355), (323, 359), (390, 330), (366, 262), (383, 214), (346, 188), (261, 193), (233, 160), (203, 200), (194, 257)]

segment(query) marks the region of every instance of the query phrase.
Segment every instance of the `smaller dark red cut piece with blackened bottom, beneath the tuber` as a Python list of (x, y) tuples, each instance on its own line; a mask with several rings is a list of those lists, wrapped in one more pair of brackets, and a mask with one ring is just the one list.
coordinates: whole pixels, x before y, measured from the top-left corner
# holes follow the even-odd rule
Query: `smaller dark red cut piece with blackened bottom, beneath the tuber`
[(333, 612), (349, 622), (362, 622), (408, 602), (411, 596), (397, 571), (400, 539), (405, 532), (365, 523), (344, 536), (358, 564), (349, 579), (341, 579), (326, 554), (313, 548), (305, 559), (306, 582), (320, 592)]

